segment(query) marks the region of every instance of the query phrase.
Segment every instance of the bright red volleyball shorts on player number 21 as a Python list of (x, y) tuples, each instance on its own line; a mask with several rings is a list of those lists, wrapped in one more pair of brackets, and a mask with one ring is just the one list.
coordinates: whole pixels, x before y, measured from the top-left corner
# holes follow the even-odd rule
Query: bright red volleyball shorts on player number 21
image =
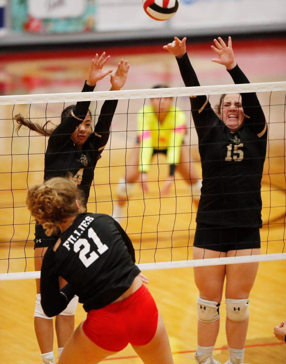
[(120, 351), (128, 343), (146, 345), (154, 337), (158, 309), (148, 289), (142, 286), (131, 296), (98, 310), (90, 310), (83, 332), (100, 348)]

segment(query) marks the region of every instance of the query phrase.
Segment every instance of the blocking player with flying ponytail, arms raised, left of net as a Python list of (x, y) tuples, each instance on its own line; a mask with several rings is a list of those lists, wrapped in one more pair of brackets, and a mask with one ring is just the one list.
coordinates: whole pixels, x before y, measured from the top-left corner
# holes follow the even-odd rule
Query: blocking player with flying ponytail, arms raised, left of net
[[(82, 92), (93, 91), (95, 84), (108, 74), (111, 77), (111, 91), (120, 90), (125, 84), (129, 64), (127, 61), (118, 64), (113, 75), (112, 70), (104, 71), (103, 66), (110, 56), (105, 52), (99, 57), (97, 54), (92, 60), (88, 79), (84, 83)], [(104, 102), (95, 130), (91, 128), (91, 112), (88, 110), (90, 101), (78, 102), (65, 108), (61, 114), (61, 122), (54, 130), (25, 120), (21, 115), (15, 118), (19, 123), (17, 130), (24, 125), (42, 135), (49, 135), (48, 146), (45, 153), (44, 179), (63, 177), (71, 173), (77, 181), (78, 188), (84, 195), (86, 206), (90, 194), (90, 186), (94, 178), (94, 169), (110, 134), (111, 121), (117, 106), (117, 100)], [(35, 270), (41, 269), (42, 258), (47, 247), (57, 241), (58, 236), (46, 236), (41, 225), (35, 226)], [(35, 332), (42, 353), (43, 363), (55, 363), (53, 356), (53, 322), (41, 308), (40, 282), (36, 280), (37, 296), (35, 308)], [(74, 313), (77, 299), (72, 300), (63, 312), (56, 317), (56, 333), (59, 346), (59, 355), (74, 331)]]

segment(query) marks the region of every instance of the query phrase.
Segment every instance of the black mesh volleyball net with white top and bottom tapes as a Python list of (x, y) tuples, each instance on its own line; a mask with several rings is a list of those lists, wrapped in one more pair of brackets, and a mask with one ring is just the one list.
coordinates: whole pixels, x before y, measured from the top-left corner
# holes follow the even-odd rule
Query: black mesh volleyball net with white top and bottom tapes
[(184, 149), (187, 159), (179, 163), (194, 171), (194, 183), (195, 179), (201, 178), (202, 172), (188, 96), (208, 95), (214, 106), (221, 94), (245, 92), (257, 93), (268, 124), (261, 188), (262, 254), (192, 260), (199, 196), (192, 193), (187, 181), (189, 178), (178, 171), (175, 171), (168, 193), (162, 193), (170, 179), (169, 164), (162, 153), (156, 153), (150, 162), (148, 190), (144, 191), (139, 181), (134, 182), (132, 194), (128, 195), (127, 191), (127, 204), (120, 224), (132, 240), (136, 261), (142, 270), (286, 259), (286, 82), (0, 96), (0, 280), (40, 276), (40, 272), (33, 271), (35, 222), (25, 199), (29, 187), (43, 182), (48, 137), (25, 127), (17, 135), (15, 115), (20, 113), (41, 125), (48, 120), (57, 125), (66, 106), (90, 100), (93, 123), (96, 123), (103, 101), (119, 100), (108, 144), (95, 168), (87, 204), (88, 212), (112, 215), (118, 204), (120, 181), (126, 177), (127, 169), (132, 167), (129, 161), (139, 148), (136, 142), (138, 112), (150, 102), (149, 99), (172, 97), (175, 107), (183, 111), (186, 134), (181, 150)]

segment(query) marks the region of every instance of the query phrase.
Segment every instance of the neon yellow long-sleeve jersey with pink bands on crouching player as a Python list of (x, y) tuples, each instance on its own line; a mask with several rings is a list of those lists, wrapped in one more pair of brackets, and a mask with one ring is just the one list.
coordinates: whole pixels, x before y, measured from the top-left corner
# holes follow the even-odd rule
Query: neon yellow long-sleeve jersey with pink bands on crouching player
[(139, 171), (148, 172), (154, 149), (167, 150), (167, 162), (177, 164), (186, 132), (186, 116), (178, 107), (171, 106), (163, 123), (158, 121), (152, 105), (138, 111), (137, 118)]

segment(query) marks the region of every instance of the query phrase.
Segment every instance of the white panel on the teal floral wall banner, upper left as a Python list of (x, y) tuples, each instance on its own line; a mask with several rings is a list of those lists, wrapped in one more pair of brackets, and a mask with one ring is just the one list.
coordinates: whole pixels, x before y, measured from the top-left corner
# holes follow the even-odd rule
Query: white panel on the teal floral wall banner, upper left
[(28, 13), (37, 19), (82, 16), (86, 0), (28, 0)]

